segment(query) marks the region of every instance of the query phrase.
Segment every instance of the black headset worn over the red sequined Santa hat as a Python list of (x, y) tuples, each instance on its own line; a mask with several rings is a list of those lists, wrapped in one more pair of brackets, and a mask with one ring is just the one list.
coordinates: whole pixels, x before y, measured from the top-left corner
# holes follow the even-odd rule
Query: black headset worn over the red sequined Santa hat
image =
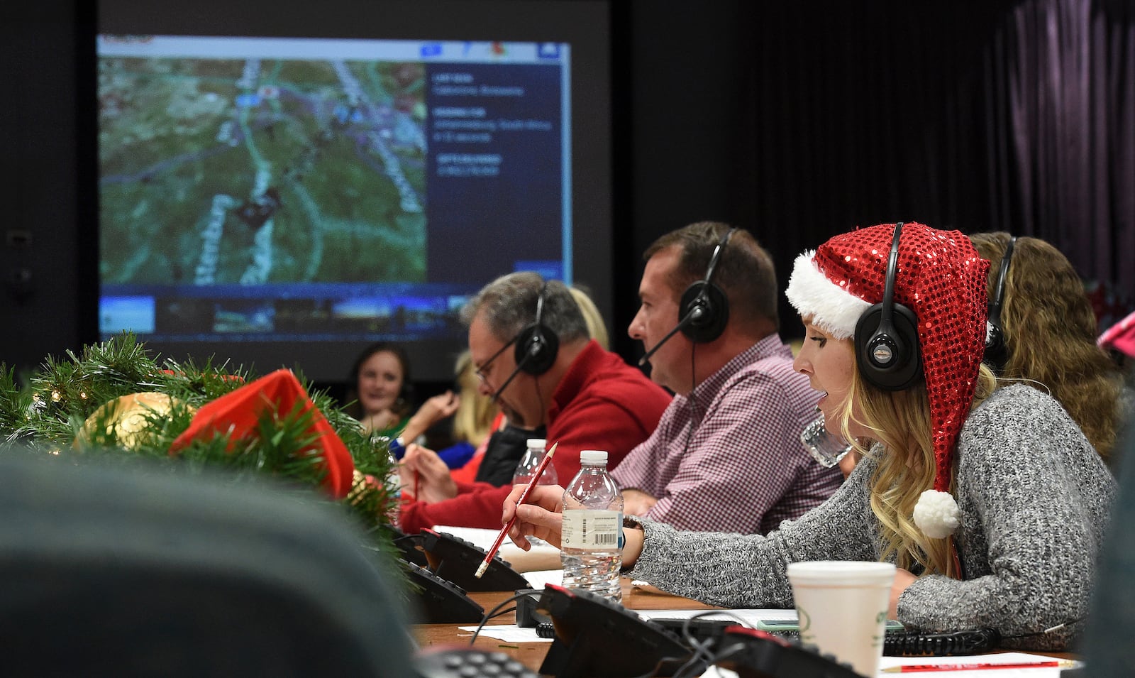
[(894, 240), (886, 260), (883, 301), (864, 311), (855, 326), (859, 374), (868, 384), (883, 391), (910, 388), (923, 376), (918, 318), (914, 311), (894, 302), (901, 233), (902, 221), (899, 221), (894, 225)]

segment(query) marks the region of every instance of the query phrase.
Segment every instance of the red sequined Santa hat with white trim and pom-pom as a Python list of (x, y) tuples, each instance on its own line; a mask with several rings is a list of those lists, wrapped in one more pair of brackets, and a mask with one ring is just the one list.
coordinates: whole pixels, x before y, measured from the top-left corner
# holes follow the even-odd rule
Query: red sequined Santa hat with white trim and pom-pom
[[(859, 228), (800, 254), (787, 290), (800, 316), (836, 338), (854, 337), (864, 311), (883, 301), (894, 229), (894, 224)], [(893, 302), (917, 317), (938, 466), (934, 491), (918, 500), (915, 522), (934, 538), (951, 534), (958, 524), (957, 504), (945, 493), (985, 350), (987, 273), (989, 261), (965, 234), (902, 225)]]

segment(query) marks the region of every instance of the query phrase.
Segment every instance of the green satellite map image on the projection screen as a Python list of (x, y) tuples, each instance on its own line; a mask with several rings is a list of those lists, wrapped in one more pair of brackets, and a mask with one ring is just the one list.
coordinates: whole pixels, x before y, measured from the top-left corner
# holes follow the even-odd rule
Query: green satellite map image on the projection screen
[(100, 58), (102, 282), (424, 281), (424, 73)]

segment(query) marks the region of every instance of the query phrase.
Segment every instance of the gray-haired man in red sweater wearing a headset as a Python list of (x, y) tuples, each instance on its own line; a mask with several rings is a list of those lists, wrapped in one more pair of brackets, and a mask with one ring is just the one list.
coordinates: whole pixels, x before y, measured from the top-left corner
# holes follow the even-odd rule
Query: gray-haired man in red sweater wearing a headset
[[(493, 395), (526, 427), (547, 427), (558, 443), (553, 463), (562, 483), (579, 471), (581, 450), (606, 450), (614, 468), (645, 441), (671, 396), (638, 369), (589, 338), (571, 291), (536, 273), (514, 273), (486, 285), (462, 310), (469, 351)], [(415, 478), (417, 476), (417, 478)], [(501, 505), (512, 491), (457, 483), (437, 454), (410, 445), (402, 462), (400, 527), (414, 534), (435, 525), (501, 527)]]

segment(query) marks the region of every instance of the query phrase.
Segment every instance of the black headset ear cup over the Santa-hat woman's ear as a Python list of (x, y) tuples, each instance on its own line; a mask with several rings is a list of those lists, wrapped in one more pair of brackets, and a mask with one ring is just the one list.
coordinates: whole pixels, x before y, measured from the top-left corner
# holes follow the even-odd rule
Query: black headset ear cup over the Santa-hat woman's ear
[[(878, 332), (883, 304), (868, 308), (855, 328), (856, 362), (864, 380), (883, 391), (905, 391), (922, 379), (922, 351), (918, 346), (918, 320), (901, 303), (891, 307), (893, 333)], [(890, 343), (896, 359), (890, 366), (878, 366), (872, 353), (878, 344)]]

